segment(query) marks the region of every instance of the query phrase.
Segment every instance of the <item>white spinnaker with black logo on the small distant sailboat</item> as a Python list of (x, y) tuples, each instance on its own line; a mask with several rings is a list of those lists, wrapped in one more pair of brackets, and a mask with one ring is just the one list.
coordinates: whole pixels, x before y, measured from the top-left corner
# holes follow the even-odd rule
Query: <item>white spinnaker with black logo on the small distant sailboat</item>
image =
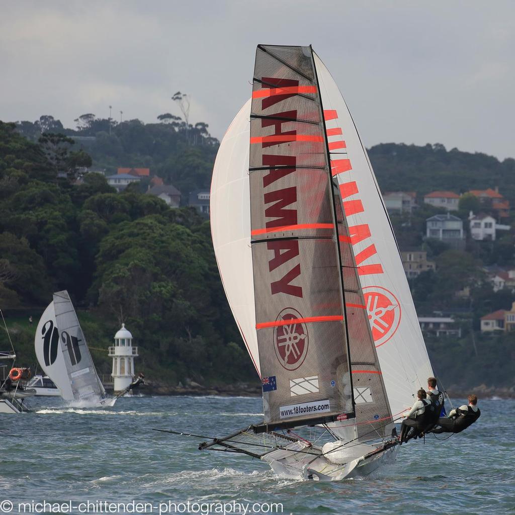
[(66, 401), (73, 401), (74, 394), (70, 377), (59, 341), (59, 329), (56, 324), (54, 302), (48, 304), (40, 318), (34, 339), (36, 357), (40, 367), (61, 390)]

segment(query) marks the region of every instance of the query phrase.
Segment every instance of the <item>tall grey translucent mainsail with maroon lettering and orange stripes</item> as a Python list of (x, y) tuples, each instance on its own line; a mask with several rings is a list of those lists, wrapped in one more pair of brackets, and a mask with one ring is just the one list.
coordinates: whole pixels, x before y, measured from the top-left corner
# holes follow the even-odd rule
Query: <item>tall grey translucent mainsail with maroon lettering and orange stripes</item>
[(311, 48), (258, 45), (249, 151), (258, 431), (354, 417), (322, 113)]

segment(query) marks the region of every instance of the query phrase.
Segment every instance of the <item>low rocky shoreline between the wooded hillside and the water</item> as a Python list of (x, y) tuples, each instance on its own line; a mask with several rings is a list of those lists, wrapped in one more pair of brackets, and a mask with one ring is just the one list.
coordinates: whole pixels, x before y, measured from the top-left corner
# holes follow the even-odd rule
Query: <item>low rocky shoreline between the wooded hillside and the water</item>
[[(202, 386), (193, 383), (187, 386), (170, 386), (159, 383), (147, 383), (140, 392), (147, 395), (170, 396), (190, 395), (203, 397), (211, 395), (219, 397), (261, 397), (261, 385), (256, 383), (238, 383), (223, 386)], [(447, 389), (447, 393), (449, 397), (456, 399), (466, 399), (470, 393), (475, 393), (479, 399), (491, 399), (493, 397), (515, 399), (515, 386), (511, 388), (497, 388), (494, 386), (479, 385), (475, 388), (464, 389), (453, 385), (451, 388)]]

